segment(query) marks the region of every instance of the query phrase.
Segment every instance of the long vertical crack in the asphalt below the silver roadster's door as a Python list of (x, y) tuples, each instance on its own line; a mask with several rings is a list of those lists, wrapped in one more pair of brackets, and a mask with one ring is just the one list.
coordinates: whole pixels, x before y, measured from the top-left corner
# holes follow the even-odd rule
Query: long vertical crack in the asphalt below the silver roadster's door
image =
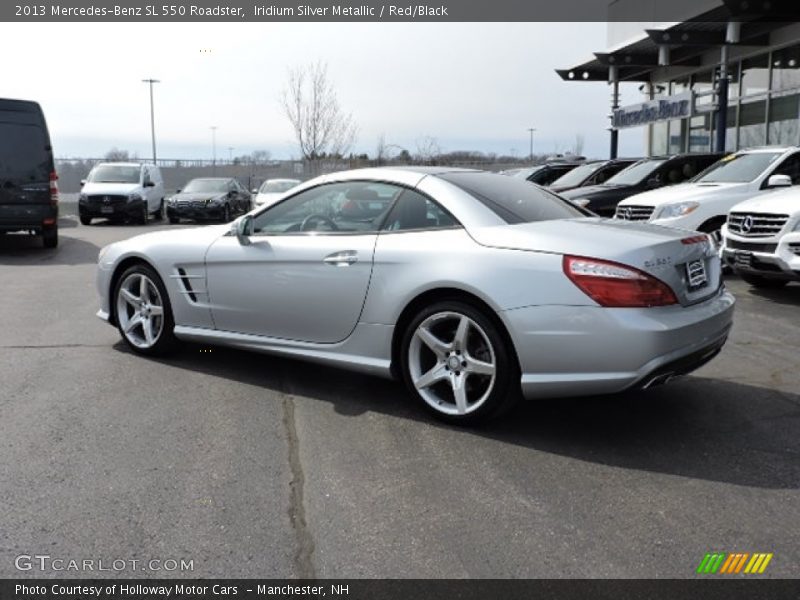
[(297, 566), (297, 577), (300, 579), (314, 579), (314, 538), (306, 523), (306, 512), (303, 504), (303, 488), (305, 476), (303, 466), (300, 463), (300, 441), (297, 437), (297, 427), (294, 418), (294, 400), (291, 396), (285, 395), (283, 398), (283, 424), (286, 426), (286, 437), (289, 444), (289, 467), (292, 479), (289, 482), (289, 520), (295, 531), (297, 538), (297, 552), (295, 553), (295, 565)]

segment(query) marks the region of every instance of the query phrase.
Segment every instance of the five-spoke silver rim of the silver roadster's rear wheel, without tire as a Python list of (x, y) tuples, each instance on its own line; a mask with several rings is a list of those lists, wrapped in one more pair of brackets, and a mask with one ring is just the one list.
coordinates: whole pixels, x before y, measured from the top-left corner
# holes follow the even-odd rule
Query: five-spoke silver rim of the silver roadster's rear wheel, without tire
[(445, 415), (477, 411), (497, 378), (489, 336), (473, 319), (452, 311), (435, 313), (417, 326), (408, 346), (408, 368), (417, 393)]

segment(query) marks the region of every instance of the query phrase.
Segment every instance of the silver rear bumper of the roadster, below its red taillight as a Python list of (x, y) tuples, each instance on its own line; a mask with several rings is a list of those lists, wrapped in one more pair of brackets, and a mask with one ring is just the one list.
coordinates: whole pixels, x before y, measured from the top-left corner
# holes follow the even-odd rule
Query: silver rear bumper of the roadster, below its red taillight
[(683, 307), (533, 306), (501, 313), (526, 397), (613, 394), (707, 362), (727, 339), (734, 298)]

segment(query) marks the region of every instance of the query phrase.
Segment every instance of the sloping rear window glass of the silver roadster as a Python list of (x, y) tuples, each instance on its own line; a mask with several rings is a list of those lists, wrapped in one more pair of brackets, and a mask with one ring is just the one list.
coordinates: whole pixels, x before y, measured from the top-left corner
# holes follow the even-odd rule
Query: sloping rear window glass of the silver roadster
[(446, 173), (445, 181), (477, 198), (506, 223), (574, 219), (590, 213), (538, 185), (494, 173)]

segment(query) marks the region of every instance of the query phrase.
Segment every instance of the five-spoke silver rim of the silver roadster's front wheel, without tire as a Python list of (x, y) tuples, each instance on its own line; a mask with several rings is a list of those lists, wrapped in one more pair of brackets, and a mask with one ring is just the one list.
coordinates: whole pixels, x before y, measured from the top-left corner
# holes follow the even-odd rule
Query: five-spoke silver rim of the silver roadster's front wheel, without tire
[(147, 275), (131, 273), (118, 290), (120, 331), (137, 348), (152, 348), (164, 329), (164, 303), (158, 287)]

